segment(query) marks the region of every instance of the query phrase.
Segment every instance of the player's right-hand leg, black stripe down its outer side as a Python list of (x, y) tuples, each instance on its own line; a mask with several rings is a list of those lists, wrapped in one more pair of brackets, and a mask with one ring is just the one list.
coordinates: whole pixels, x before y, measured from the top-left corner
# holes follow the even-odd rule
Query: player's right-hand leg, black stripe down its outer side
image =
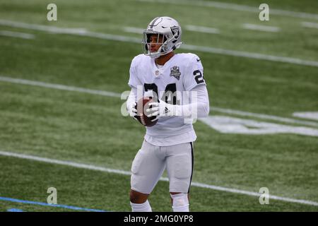
[(192, 143), (167, 147), (167, 174), (174, 212), (189, 212), (189, 189), (193, 172)]

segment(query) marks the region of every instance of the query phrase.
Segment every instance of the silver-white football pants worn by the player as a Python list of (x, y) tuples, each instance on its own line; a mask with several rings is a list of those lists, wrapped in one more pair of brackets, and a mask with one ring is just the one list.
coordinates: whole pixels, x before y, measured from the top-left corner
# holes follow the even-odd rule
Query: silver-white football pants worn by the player
[(169, 191), (188, 193), (193, 172), (193, 144), (160, 147), (143, 141), (131, 166), (131, 189), (151, 194), (165, 168)]

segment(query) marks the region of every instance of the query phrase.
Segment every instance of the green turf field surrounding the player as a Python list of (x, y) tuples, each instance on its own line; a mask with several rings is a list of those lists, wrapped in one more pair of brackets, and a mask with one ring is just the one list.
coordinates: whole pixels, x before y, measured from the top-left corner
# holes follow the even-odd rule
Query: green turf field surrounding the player
[[(196, 47), (223, 49), (222, 53), (177, 50), (201, 58), (210, 117), (288, 126), (287, 132), (252, 135), (221, 133), (197, 121), (193, 182), (218, 187), (192, 186), (190, 210), (318, 210), (318, 121), (293, 117), (294, 112), (318, 112), (318, 29), (302, 26), (306, 22), (318, 27), (317, 1), (266, 1), (270, 20), (260, 21), (257, 12), (230, 6), (258, 10), (263, 1), (227, 0), (228, 8), (218, 8), (205, 6), (208, 1), (199, 1), (203, 4), (199, 6), (177, 0), (58, 0), (54, 1), (58, 20), (49, 22), (47, 4), (51, 2), (0, 2), (0, 211), (73, 211), (23, 202), (46, 203), (49, 187), (57, 188), (61, 205), (131, 210), (129, 175), (52, 160), (130, 170), (145, 129), (120, 111), (124, 100), (118, 95), (129, 90), (131, 59), (141, 53), (141, 44), (134, 41), (139, 38), (141, 42), (141, 35), (124, 28), (146, 28), (156, 16), (172, 16), (182, 28), (196, 25), (220, 31), (207, 34), (184, 29), (183, 40)], [(288, 13), (271, 15), (271, 8)], [(295, 12), (307, 14), (304, 18)], [(280, 30), (246, 30), (244, 23)], [(48, 32), (52, 26), (87, 32)], [(7, 35), (21, 32), (34, 36)], [(118, 36), (111, 40), (105, 34)], [(119, 37), (131, 37), (131, 42), (119, 41)], [(257, 53), (263, 58), (234, 56), (233, 51)], [(288, 63), (286, 57), (301, 61)], [(54, 84), (65, 86), (61, 90)], [(72, 91), (70, 87), (109, 91), (114, 96)], [(296, 128), (309, 131), (311, 136), (296, 133)], [(4, 153), (24, 154), (29, 159)], [(51, 162), (30, 159), (30, 155)], [(261, 187), (267, 187), (273, 196), (291, 200), (270, 198), (269, 205), (261, 205), (258, 196), (239, 194), (258, 193)], [(153, 210), (170, 211), (168, 183), (159, 182), (149, 200)]]

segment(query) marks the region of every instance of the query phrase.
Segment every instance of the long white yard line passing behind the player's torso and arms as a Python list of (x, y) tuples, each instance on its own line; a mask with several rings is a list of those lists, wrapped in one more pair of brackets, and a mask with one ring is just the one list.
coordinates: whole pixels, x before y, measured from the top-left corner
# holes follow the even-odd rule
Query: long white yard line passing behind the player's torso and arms
[[(114, 93), (114, 92), (109, 92), (109, 91), (104, 91), (104, 90), (92, 90), (92, 89), (87, 89), (87, 88), (78, 88), (78, 87), (73, 87), (73, 86), (69, 86), (69, 85), (60, 85), (60, 84), (54, 84), (54, 83), (30, 81), (30, 80), (25, 80), (25, 79), (20, 79), (20, 78), (10, 78), (10, 77), (1, 76), (1, 75), (0, 75), (0, 81), (8, 82), (8, 83), (23, 84), (23, 85), (34, 85), (34, 86), (40, 86), (40, 87), (45, 87), (45, 88), (54, 88), (54, 89), (58, 89), (58, 90), (76, 91), (76, 92), (80, 92), (80, 93), (90, 93), (90, 94), (95, 94), (95, 95), (103, 95), (103, 96), (107, 96), (107, 97), (121, 97), (120, 93)], [(225, 109), (225, 108), (221, 108), (221, 107), (210, 107), (210, 109), (213, 112), (235, 114), (235, 115), (241, 115), (241, 116), (246, 116), (246, 117), (255, 117), (255, 118), (259, 118), (259, 119), (270, 119), (273, 121), (283, 121), (286, 123), (302, 124), (305, 126), (318, 126), (318, 123), (315, 123), (314, 121), (289, 119), (289, 118), (277, 117), (277, 116), (269, 115), (269, 114), (257, 114), (257, 113), (252, 113), (252, 112), (242, 112), (239, 110)]]

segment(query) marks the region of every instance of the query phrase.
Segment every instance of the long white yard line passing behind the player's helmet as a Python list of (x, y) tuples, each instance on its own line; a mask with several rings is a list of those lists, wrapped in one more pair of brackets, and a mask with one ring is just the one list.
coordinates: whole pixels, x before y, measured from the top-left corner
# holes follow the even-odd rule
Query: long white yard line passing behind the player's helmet
[[(112, 35), (112, 34), (105, 34), (100, 32), (89, 32), (87, 30), (76, 30), (76, 29), (74, 30), (74, 28), (67, 28), (67, 29), (57, 28), (57, 27), (45, 26), (45, 25), (35, 25), (35, 24), (14, 22), (10, 20), (0, 20), (0, 25), (13, 26), (16, 28), (42, 30), (47, 32), (64, 33), (69, 35), (97, 37), (104, 40), (114, 40), (119, 42), (133, 42), (133, 43), (139, 43), (139, 44), (141, 43), (141, 39), (136, 37)], [(59, 29), (62, 29), (62, 30), (59, 30)], [(262, 59), (266, 61), (275, 61), (275, 62), (282, 62), (282, 63), (288, 63), (288, 64), (298, 64), (303, 66), (318, 67), (318, 61), (307, 61), (303, 59), (297, 59), (297, 58), (291, 58), (291, 57), (279, 57), (279, 56), (273, 56), (273, 55), (258, 54), (253, 52), (242, 52), (242, 51), (236, 51), (236, 50), (230, 50), (230, 49), (219, 49), (219, 48), (213, 48), (213, 47), (196, 46), (191, 44), (182, 44), (181, 49), (208, 52), (212, 54), (222, 54), (222, 55), (228, 55), (232, 57), (247, 57), (252, 59)]]

